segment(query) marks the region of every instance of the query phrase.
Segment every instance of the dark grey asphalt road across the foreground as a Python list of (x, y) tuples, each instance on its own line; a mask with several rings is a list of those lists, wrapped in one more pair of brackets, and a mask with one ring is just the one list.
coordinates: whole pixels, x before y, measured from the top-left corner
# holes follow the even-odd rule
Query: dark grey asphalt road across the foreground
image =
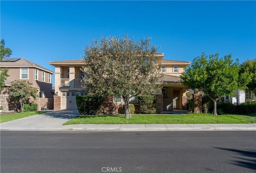
[(255, 131), (1, 131), (1, 173), (250, 173)]

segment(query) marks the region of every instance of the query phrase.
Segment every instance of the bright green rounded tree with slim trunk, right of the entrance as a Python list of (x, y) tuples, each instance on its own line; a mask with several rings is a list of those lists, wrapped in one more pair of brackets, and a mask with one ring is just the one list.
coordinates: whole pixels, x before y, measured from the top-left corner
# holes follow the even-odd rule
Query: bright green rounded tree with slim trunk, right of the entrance
[(214, 102), (214, 115), (217, 115), (217, 100), (224, 95), (234, 95), (234, 90), (246, 85), (240, 83), (238, 72), (238, 60), (233, 63), (231, 54), (218, 58), (218, 53), (206, 56), (203, 52), (201, 57), (194, 58), (180, 78), (183, 85), (208, 95)]

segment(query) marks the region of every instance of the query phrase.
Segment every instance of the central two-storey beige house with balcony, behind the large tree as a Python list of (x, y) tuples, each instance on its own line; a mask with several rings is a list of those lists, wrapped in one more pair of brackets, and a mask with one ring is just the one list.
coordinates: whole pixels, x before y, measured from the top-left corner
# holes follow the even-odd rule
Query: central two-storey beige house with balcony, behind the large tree
[[(173, 109), (184, 109), (186, 103), (186, 92), (188, 87), (180, 84), (180, 74), (184, 67), (190, 65), (190, 62), (162, 60), (164, 54), (157, 54), (158, 63), (164, 74), (162, 95), (158, 97), (160, 110), (171, 111)], [(85, 89), (81, 86), (81, 78), (85, 75), (80, 68), (84, 65), (83, 59), (64, 60), (49, 62), (55, 66), (55, 95), (54, 109), (77, 109), (76, 96), (86, 95)], [(115, 104), (111, 113), (118, 113), (118, 108), (124, 104), (122, 97), (113, 97)], [(130, 99), (131, 103), (138, 102), (137, 96)]]

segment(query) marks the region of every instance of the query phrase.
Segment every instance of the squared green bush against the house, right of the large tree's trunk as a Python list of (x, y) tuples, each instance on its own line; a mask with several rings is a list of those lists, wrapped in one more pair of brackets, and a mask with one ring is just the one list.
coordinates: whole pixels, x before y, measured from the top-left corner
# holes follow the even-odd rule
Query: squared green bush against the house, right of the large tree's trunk
[(140, 113), (156, 113), (156, 95), (138, 95)]

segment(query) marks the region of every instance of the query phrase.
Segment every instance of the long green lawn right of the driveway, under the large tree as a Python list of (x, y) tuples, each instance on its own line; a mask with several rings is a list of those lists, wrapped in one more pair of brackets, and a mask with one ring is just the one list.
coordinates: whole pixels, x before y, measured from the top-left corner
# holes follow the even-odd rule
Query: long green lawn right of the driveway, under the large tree
[(185, 115), (146, 115), (134, 114), (131, 119), (124, 115), (84, 115), (78, 116), (63, 125), (70, 124), (215, 124), (215, 123), (256, 123), (256, 113), (250, 115), (225, 114), (214, 116), (206, 113)]

